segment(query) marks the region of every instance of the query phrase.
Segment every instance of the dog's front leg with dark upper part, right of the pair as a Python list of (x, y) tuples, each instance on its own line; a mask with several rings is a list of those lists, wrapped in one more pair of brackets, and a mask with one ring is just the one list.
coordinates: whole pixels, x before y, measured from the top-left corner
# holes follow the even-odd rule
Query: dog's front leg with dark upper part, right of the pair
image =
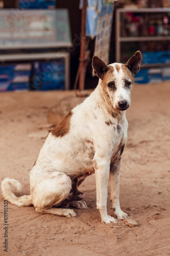
[(119, 203), (119, 179), (120, 168), (122, 165), (122, 158), (119, 158), (117, 162), (110, 164), (110, 200), (112, 201), (112, 208), (117, 219), (124, 220), (129, 218), (128, 215), (121, 210)]

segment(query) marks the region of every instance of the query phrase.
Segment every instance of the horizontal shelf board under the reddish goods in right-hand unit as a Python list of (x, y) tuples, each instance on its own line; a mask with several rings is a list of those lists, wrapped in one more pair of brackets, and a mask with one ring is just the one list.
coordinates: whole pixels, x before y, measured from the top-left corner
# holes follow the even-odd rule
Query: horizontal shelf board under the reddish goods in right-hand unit
[(170, 36), (129, 36), (119, 37), (120, 42), (170, 40)]

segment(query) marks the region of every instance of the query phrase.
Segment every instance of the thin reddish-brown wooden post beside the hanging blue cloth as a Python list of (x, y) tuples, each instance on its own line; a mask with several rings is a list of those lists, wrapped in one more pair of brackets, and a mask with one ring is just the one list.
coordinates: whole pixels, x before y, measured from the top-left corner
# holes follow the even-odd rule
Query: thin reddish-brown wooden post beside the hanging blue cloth
[(81, 46), (80, 46), (80, 77), (79, 77), (79, 90), (84, 90), (85, 76), (86, 76), (86, 8), (87, 0), (83, 0), (82, 18), (81, 18)]

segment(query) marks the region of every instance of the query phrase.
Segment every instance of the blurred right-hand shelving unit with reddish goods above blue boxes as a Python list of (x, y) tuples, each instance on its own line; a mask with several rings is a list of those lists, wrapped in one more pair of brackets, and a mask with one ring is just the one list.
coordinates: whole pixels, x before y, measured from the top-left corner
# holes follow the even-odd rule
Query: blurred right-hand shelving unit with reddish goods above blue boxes
[(118, 1), (115, 31), (116, 62), (125, 63), (135, 51), (142, 52), (135, 82), (170, 79), (170, 1)]

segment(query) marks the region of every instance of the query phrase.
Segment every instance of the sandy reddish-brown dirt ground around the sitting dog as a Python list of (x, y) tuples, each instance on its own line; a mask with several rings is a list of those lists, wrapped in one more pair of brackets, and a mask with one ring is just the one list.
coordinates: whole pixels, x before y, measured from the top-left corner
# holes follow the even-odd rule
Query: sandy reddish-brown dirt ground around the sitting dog
[[(30, 138), (47, 122), (47, 111), (74, 92), (0, 94), (1, 181), (15, 178), (29, 194), (29, 172), (44, 139)], [(120, 205), (138, 226), (102, 224), (96, 210), (95, 176), (80, 190), (88, 209), (78, 218), (41, 215), (34, 207), (8, 204), (8, 252), (4, 251), (4, 199), (0, 192), (0, 255), (170, 255), (170, 84), (135, 84), (128, 143), (120, 178)], [(113, 215), (108, 196), (108, 214)]]

